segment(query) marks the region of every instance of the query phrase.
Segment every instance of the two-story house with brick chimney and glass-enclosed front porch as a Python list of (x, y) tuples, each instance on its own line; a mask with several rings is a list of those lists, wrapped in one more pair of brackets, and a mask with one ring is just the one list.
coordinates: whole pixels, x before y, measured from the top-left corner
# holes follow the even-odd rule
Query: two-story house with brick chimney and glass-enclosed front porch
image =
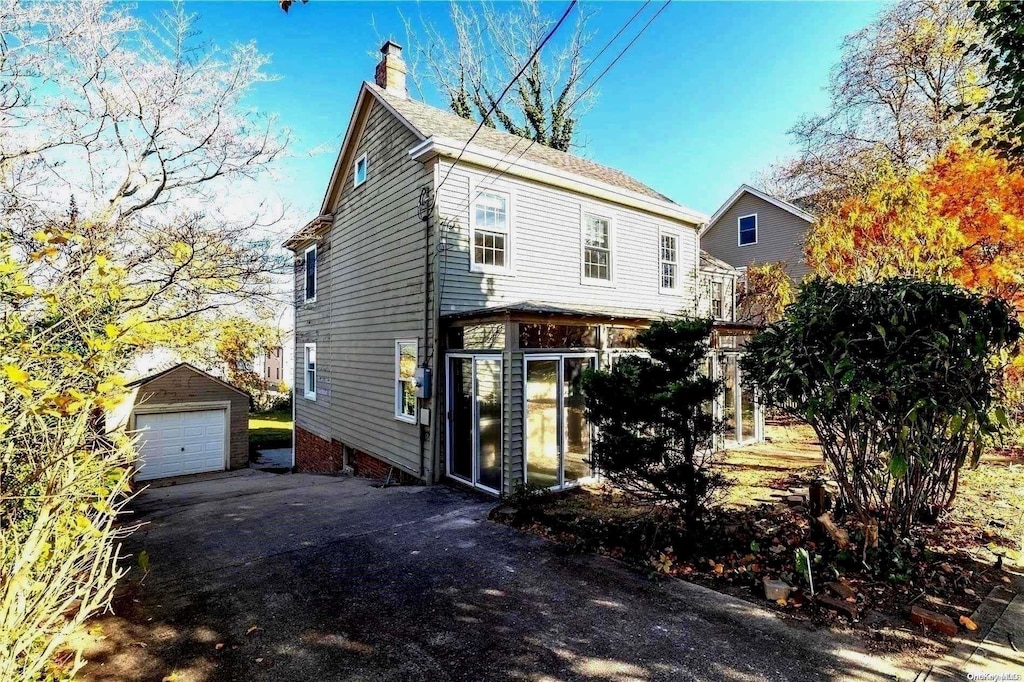
[[(735, 363), (750, 331), (732, 322), (739, 272), (709, 260), (700, 278), (706, 217), (621, 171), (410, 99), (401, 48), (381, 51), (321, 215), (286, 245), (297, 467), (493, 494), (571, 485), (591, 475), (583, 371), (635, 352), (653, 319), (713, 308), (711, 370), (732, 390), (719, 414), (732, 441), (758, 437), (757, 413), (753, 428), (737, 419), (754, 406)], [(718, 281), (721, 301), (701, 293)]]

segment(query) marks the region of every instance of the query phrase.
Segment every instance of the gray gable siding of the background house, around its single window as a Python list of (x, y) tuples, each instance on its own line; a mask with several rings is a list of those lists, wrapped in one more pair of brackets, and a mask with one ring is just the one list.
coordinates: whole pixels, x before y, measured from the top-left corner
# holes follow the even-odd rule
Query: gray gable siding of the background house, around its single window
[[(739, 246), (739, 217), (756, 213), (758, 243)], [(810, 272), (804, 263), (804, 238), (810, 223), (788, 211), (744, 193), (700, 238), (700, 248), (730, 265), (785, 261), (790, 275), (802, 280)]]

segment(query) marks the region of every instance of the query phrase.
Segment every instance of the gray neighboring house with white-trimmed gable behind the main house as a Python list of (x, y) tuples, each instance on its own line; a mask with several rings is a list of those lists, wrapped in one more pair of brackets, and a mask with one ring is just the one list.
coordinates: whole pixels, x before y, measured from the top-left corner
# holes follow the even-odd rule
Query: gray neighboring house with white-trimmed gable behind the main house
[(742, 184), (700, 230), (700, 248), (734, 267), (783, 261), (799, 282), (811, 271), (804, 239), (813, 222), (807, 211)]

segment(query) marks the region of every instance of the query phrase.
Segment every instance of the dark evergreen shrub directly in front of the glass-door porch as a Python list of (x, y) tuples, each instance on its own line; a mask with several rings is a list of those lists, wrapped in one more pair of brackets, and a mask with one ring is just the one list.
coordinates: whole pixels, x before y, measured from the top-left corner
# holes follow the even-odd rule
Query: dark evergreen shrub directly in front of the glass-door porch
[(709, 407), (722, 390), (702, 372), (710, 335), (708, 321), (657, 322), (637, 335), (649, 356), (584, 375), (594, 468), (621, 489), (677, 506), (690, 523), (723, 484), (710, 469), (721, 425)]

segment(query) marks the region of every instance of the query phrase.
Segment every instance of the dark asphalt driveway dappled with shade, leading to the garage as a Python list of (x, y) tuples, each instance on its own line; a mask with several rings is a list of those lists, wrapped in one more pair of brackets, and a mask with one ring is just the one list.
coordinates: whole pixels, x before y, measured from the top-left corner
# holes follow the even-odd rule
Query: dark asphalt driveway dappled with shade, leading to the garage
[(86, 680), (892, 679), (836, 633), (485, 520), (446, 486), (245, 472), (135, 502)]

